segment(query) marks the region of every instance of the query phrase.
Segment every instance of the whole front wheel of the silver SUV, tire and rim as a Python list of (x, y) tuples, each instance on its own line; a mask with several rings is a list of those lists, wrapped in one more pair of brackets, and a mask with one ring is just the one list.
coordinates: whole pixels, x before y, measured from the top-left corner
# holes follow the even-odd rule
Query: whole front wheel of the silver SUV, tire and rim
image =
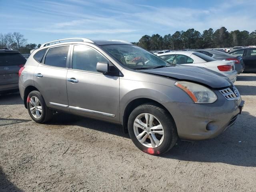
[(178, 139), (170, 114), (151, 103), (140, 105), (131, 112), (128, 132), (140, 150), (153, 155), (166, 153)]

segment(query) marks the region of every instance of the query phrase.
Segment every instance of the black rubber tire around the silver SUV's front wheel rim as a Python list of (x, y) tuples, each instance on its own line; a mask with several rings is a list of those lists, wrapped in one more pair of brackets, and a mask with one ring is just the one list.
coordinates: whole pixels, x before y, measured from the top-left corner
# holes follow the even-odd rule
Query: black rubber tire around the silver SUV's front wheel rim
[[(164, 130), (164, 139), (162, 144), (156, 148), (149, 148), (142, 145), (136, 135), (134, 133), (134, 121), (137, 116), (143, 113), (149, 113), (155, 116), (162, 124)], [(156, 106), (154, 103), (142, 104), (136, 107), (130, 114), (128, 119), (128, 132), (132, 142), (143, 152), (156, 155), (156, 154), (164, 154), (168, 152), (175, 144), (178, 139), (176, 125), (174, 120), (170, 114), (161, 108), (160, 106)]]

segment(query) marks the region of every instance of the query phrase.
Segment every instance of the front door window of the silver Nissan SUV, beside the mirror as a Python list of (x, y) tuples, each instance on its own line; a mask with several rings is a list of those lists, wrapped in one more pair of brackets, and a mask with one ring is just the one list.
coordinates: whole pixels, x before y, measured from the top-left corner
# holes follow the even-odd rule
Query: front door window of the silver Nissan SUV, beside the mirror
[(72, 57), (72, 68), (84, 71), (97, 71), (98, 62), (108, 62), (101, 54), (84, 45), (75, 45)]

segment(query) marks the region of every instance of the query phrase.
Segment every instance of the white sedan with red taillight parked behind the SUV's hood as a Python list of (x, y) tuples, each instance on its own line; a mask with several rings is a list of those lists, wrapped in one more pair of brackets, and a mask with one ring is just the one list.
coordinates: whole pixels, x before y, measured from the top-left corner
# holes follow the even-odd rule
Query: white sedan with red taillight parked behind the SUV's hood
[(228, 77), (232, 83), (236, 81), (237, 71), (234, 70), (234, 61), (216, 60), (210, 56), (194, 51), (168, 52), (158, 56), (173, 64), (204, 67), (223, 74)]

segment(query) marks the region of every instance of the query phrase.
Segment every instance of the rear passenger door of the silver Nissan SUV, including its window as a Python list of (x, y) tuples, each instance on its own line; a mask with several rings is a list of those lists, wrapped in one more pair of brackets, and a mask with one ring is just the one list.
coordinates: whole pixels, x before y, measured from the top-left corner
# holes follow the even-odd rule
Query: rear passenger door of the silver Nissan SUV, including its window
[(34, 84), (46, 105), (63, 111), (68, 111), (66, 75), (69, 52), (70, 45), (49, 48), (34, 72)]

